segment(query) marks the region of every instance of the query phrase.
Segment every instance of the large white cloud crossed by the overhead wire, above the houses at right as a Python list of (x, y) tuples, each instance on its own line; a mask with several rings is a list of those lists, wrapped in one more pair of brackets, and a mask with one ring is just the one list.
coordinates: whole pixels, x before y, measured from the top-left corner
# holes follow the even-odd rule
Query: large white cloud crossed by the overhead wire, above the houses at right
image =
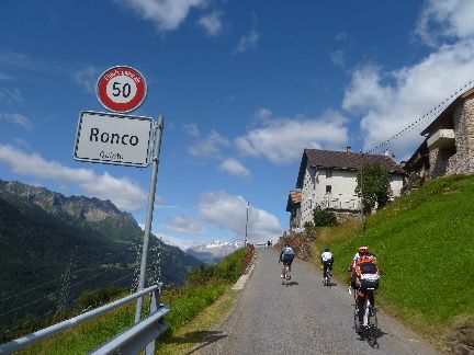
[[(474, 42), (443, 45), (411, 67), (383, 71), (368, 65), (357, 69), (345, 93), (343, 108), (362, 115), (364, 150), (371, 149), (420, 118), (474, 79)], [(435, 117), (429, 117), (432, 119)], [(390, 149), (397, 157), (409, 158), (421, 141), (419, 133), (429, 124), (422, 122)]]

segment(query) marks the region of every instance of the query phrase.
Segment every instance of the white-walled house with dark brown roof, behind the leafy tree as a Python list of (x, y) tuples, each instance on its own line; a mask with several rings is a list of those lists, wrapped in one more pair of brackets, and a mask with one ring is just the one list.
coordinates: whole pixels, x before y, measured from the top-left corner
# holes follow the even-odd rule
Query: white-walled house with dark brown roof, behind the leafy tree
[(360, 197), (354, 193), (357, 172), (370, 163), (380, 163), (390, 172), (392, 196), (399, 196), (405, 172), (388, 154), (305, 149), (296, 188), (301, 191), (301, 225), (313, 221), (315, 208), (338, 214), (358, 214)]

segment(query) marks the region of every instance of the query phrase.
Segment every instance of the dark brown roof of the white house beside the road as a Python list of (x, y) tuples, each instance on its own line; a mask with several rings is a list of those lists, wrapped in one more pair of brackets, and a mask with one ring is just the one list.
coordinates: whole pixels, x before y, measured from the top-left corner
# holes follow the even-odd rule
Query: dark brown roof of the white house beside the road
[(320, 149), (305, 149), (300, 164), (300, 173), (296, 187), (303, 187), (303, 179), (306, 164), (311, 167), (336, 170), (359, 170), (365, 164), (380, 163), (382, 168), (391, 173), (404, 174), (405, 171), (395, 162), (394, 159), (383, 154), (363, 154), (347, 151), (331, 151)]

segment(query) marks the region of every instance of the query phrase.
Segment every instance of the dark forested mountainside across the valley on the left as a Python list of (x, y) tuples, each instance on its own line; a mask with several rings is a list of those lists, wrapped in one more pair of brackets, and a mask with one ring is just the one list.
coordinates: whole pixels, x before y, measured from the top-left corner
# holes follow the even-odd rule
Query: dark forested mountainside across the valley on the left
[[(82, 290), (136, 284), (143, 230), (110, 201), (0, 180), (0, 328), (68, 309)], [(150, 240), (149, 279), (182, 284), (202, 264)], [(27, 306), (25, 306), (27, 305)], [(54, 313), (53, 312), (53, 313)]]

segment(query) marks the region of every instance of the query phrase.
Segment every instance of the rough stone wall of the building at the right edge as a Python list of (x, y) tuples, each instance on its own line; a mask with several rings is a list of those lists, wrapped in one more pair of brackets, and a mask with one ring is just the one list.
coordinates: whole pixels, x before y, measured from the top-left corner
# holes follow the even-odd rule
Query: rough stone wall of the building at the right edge
[[(474, 173), (474, 98), (454, 112), (455, 153), (449, 158), (447, 175)], [(435, 152), (433, 152), (435, 154)], [(431, 152), (430, 152), (431, 158)], [(439, 175), (437, 175), (439, 176)]]

